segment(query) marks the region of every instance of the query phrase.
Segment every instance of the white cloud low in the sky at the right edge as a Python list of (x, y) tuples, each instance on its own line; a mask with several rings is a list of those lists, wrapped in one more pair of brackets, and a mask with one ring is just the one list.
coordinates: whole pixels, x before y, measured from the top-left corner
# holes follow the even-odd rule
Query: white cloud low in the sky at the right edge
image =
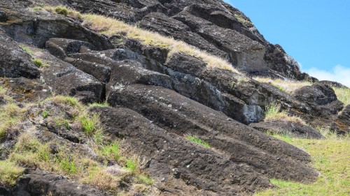
[(350, 87), (350, 68), (337, 65), (334, 66), (330, 71), (321, 70), (318, 68), (309, 68), (303, 71), (313, 77), (316, 77), (318, 80), (331, 80), (335, 82), (340, 82)]

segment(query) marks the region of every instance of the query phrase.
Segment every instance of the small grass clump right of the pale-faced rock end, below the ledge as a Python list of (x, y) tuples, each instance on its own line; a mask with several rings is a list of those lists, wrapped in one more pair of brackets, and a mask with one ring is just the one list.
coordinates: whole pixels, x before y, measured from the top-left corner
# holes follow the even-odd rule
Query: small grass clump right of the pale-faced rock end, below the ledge
[(300, 119), (300, 117), (290, 116), (286, 110), (281, 110), (281, 105), (278, 103), (267, 105), (264, 121), (288, 121), (306, 125), (305, 121)]

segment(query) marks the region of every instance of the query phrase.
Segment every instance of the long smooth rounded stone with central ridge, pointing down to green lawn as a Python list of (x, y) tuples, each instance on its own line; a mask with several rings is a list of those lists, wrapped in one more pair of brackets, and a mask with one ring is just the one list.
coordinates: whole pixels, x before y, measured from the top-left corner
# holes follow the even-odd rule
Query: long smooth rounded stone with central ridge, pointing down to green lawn
[[(317, 176), (312, 169), (298, 163), (299, 160), (309, 161), (309, 155), (304, 151), (248, 128), (172, 90), (133, 84), (112, 91), (108, 102), (135, 110), (169, 132), (201, 135), (214, 148), (227, 153), (230, 160), (246, 163), (269, 176), (302, 181)], [(246, 154), (254, 156), (247, 157)], [(276, 156), (295, 160), (275, 161)], [(292, 170), (293, 175), (290, 174)]]

